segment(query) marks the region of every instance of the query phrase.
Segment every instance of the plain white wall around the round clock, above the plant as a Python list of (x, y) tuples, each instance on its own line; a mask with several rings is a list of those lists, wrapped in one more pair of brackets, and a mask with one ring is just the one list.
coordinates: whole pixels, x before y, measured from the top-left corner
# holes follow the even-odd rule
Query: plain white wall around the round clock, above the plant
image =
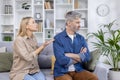
[[(109, 23), (120, 17), (120, 0), (88, 0), (88, 32), (96, 32), (100, 24)], [(107, 4), (110, 7), (110, 13), (101, 17), (97, 15), (96, 9), (100, 4)], [(90, 51), (94, 50), (91, 44), (95, 39), (88, 40)]]

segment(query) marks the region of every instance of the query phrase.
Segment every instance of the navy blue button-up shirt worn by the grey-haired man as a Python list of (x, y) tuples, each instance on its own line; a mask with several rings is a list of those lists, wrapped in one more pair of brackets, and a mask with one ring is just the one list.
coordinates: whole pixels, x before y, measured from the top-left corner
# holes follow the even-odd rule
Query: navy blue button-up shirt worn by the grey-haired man
[[(83, 71), (83, 62), (90, 60), (91, 56), (86, 44), (86, 40), (80, 34), (75, 34), (74, 41), (72, 43), (71, 38), (67, 35), (66, 29), (54, 37), (53, 42), (54, 55), (56, 57), (54, 65), (54, 77), (62, 76), (68, 72), (68, 68), (73, 64), (73, 60), (70, 57), (65, 56), (65, 53), (74, 53), (80, 55), (81, 62), (74, 64), (75, 71)], [(86, 53), (80, 53), (82, 47), (87, 48)]]

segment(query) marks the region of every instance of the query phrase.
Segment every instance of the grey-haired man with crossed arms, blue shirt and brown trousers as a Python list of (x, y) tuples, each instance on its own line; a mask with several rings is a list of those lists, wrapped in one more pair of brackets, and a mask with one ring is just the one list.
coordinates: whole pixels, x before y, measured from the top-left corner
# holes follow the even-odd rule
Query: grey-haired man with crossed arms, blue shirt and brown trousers
[(55, 80), (98, 80), (83, 68), (83, 63), (91, 56), (83, 36), (76, 32), (80, 28), (80, 14), (69, 11), (66, 16), (66, 29), (55, 36)]

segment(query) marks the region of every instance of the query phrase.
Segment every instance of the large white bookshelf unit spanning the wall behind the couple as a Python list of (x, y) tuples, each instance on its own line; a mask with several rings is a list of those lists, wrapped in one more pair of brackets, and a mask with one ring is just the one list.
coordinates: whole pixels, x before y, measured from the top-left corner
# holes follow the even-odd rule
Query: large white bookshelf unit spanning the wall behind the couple
[[(86, 37), (88, 31), (88, 0), (0, 0), (0, 41), (10, 36), (13, 41), (18, 33), (20, 21), (32, 16), (38, 24), (34, 32), (42, 43), (53, 38), (65, 28), (65, 14), (74, 10), (81, 13), (81, 29)], [(6, 8), (8, 6), (8, 9)]]

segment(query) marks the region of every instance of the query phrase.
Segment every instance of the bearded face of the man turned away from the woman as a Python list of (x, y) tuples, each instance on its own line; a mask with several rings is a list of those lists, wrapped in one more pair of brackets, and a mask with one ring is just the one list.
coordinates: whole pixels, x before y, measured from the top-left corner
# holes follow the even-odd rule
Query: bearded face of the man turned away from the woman
[(69, 28), (73, 32), (77, 32), (80, 29), (80, 18), (77, 18), (70, 22)]

